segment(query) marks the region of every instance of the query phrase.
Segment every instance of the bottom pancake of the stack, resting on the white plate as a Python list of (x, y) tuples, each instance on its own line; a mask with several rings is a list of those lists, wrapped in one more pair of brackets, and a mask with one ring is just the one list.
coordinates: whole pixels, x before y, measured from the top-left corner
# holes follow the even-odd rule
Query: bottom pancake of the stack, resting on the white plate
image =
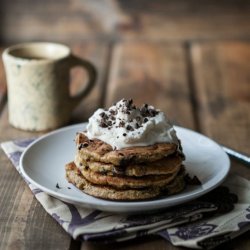
[(162, 188), (119, 190), (105, 185), (94, 185), (87, 181), (76, 165), (71, 162), (65, 166), (67, 180), (84, 193), (108, 200), (147, 200), (160, 195), (171, 195), (185, 188), (184, 171), (168, 185)]

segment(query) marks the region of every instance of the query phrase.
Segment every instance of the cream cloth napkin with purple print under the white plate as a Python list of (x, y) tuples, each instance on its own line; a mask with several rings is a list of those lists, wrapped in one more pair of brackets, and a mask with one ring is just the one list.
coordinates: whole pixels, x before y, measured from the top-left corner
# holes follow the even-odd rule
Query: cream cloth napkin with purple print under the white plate
[[(20, 156), (33, 140), (1, 144), (19, 173)], [(109, 243), (157, 234), (175, 246), (212, 249), (250, 229), (250, 182), (235, 175), (199, 199), (138, 215), (78, 207), (25, 181), (44, 209), (74, 239)]]

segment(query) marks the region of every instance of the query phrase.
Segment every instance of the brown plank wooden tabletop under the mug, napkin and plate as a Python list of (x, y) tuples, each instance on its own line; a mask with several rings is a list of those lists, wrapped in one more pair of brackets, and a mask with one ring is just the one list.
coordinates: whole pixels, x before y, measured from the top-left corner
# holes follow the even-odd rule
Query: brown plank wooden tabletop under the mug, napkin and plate
[[(119, 42), (71, 44), (99, 72), (91, 95), (72, 114), (86, 121), (100, 106), (121, 98), (151, 103), (175, 124), (194, 129), (221, 144), (250, 153), (250, 43)], [(75, 71), (73, 85), (82, 72)], [(17, 130), (8, 123), (6, 85), (0, 65), (0, 141), (41, 133)], [(250, 178), (250, 169), (232, 161), (232, 173)], [(0, 249), (178, 249), (159, 237), (102, 245), (74, 241), (36, 201), (0, 151)], [(225, 244), (249, 249), (250, 233)]]

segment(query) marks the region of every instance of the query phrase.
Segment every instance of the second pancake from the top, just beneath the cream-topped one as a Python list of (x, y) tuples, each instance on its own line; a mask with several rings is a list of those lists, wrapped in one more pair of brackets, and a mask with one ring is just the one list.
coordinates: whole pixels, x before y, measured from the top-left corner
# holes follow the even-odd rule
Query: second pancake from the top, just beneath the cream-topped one
[(126, 176), (144, 176), (144, 175), (164, 175), (178, 171), (182, 164), (180, 155), (170, 155), (166, 158), (141, 164), (131, 164), (128, 166), (118, 167), (111, 163), (97, 161), (85, 161), (77, 153), (75, 164), (79, 169), (89, 168), (91, 171), (99, 172), (106, 175), (126, 175)]

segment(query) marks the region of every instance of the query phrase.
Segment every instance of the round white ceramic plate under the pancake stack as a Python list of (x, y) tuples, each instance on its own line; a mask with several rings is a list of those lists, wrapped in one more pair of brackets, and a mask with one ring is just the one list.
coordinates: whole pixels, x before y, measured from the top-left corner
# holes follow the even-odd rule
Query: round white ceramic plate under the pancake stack
[(103, 211), (134, 213), (170, 207), (197, 198), (217, 187), (230, 169), (229, 158), (217, 143), (194, 131), (175, 127), (186, 155), (187, 172), (191, 176), (196, 175), (202, 182), (201, 186), (188, 187), (179, 194), (150, 201), (117, 202), (94, 198), (65, 179), (64, 165), (74, 159), (76, 152), (76, 132), (83, 131), (85, 126), (86, 123), (65, 127), (33, 142), (21, 157), (20, 167), (25, 178), (44, 192), (72, 204)]

